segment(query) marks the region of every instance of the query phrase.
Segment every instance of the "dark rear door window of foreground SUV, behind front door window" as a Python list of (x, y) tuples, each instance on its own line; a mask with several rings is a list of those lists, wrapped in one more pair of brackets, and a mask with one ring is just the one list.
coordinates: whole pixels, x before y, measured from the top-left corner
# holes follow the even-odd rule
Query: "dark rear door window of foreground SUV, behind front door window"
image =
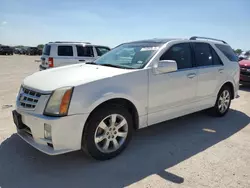
[(194, 43), (194, 54), (197, 66), (213, 65), (212, 52), (209, 44)]

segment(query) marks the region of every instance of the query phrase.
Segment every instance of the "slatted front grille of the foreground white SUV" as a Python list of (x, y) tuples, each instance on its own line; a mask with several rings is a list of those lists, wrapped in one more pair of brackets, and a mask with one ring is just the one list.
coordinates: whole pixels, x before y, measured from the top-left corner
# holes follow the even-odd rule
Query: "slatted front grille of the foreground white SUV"
[(40, 97), (41, 93), (22, 87), (19, 92), (18, 102), (23, 108), (34, 109)]

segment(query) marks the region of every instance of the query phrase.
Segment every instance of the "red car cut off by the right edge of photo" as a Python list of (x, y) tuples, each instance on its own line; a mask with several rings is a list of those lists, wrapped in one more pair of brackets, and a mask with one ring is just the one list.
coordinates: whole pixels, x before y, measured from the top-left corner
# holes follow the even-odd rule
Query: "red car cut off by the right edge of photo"
[(239, 62), (240, 64), (240, 83), (250, 84), (250, 58)]

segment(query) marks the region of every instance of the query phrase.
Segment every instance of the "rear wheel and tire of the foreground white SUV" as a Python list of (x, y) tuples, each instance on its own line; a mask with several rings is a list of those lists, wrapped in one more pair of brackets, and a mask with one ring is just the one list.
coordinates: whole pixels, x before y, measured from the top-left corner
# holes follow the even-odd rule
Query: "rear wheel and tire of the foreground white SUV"
[[(228, 96), (228, 97), (224, 97), (224, 96)], [(221, 98), (223, 98), (224, 102), (222, 102)], [(222, 117), (226, 115), (229, 110), (231, 100), (232, 100), (231, 89), (228, 86), (223, 86), (218, 93), (217, 100), (216, 100), (214, 107), (210, 109), (210, 113), (216, 117)]]

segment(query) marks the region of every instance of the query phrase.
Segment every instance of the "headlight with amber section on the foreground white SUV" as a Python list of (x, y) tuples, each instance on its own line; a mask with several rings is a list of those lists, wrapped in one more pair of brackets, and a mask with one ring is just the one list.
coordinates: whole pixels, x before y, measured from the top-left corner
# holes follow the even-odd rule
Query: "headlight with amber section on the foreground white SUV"
[(44, 114), (51, 116), (66, 116), (73, 93), (73, 87), (56, 89), (49, 98)]

